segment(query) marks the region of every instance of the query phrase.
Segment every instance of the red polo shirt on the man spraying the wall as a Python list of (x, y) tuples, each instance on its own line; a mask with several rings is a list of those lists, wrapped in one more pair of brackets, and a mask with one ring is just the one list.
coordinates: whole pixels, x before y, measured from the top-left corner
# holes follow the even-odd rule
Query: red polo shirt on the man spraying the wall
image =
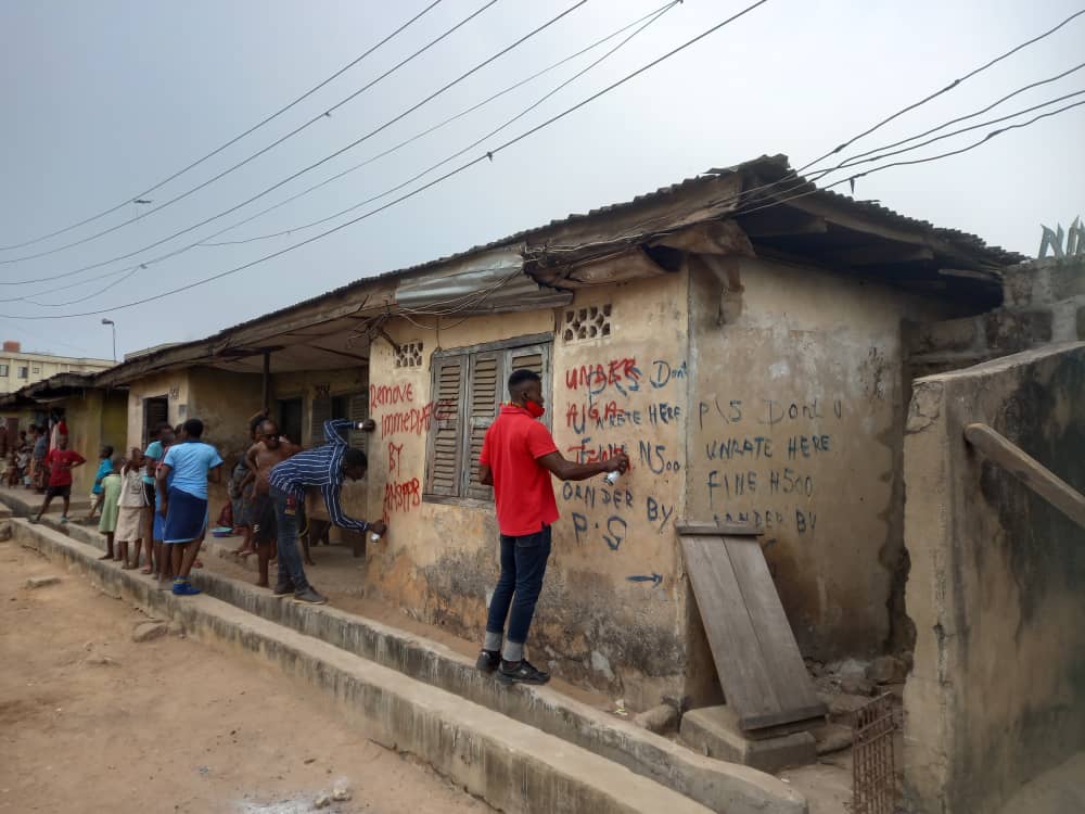
[(494, 473), (494, 501), (501, 534), (523, 537), (558, 519), (550, 470), (538, 458), (558, 451), (546, 425), (523, 407), (505, 405), (486, 431), (478, 463)]

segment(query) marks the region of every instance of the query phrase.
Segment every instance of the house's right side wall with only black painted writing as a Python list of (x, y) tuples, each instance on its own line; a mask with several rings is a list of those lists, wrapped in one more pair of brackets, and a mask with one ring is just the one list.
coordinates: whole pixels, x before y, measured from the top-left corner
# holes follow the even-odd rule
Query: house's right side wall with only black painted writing
[(691, 277), (685, 513), (764, 526), (805, 656), (907, 647), (901, 323), (942, 310), (813, 268), (727, 263)]

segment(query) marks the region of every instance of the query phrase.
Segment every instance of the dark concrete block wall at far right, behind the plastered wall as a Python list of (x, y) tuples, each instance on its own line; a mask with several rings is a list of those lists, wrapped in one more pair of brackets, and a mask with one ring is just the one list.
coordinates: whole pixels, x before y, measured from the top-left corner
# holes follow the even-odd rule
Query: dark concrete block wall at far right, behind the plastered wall
[(1022, 263), (1004, 272), (1003, 307), (910, 325), (912, 374), (942, 373), (1032, 347), (1085, 340), (1085, 256)]

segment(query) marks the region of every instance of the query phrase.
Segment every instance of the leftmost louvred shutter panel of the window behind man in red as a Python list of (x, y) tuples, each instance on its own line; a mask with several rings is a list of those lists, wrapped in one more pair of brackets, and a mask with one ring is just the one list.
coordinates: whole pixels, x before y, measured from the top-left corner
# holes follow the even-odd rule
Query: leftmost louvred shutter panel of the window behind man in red
[(426, 488), (431, 495), (460, 496), (462, 460), (461, 419), (467, 382), (467, 357), (433, 360), (434, 417), (426, 455)]

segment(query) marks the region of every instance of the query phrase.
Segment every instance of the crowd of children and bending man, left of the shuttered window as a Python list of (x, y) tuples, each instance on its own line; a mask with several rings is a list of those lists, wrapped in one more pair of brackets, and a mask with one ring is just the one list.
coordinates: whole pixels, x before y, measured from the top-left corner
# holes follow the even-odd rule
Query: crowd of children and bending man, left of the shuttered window
[[(368, 431), (373, 428), (371, 421), (361, 425)], [(295, 601), (307, 605), (328, 601), (309, 584), (301, 554), (307, 488), (320, 491), (334, 525), (376, 535), (387, 531), (383, 522), (367, 523), (348, 517), (340, 503), (344, 481), (360, 480), (368, 470), (366, 454), (345, 441), (345, 432), (350, 429), (358, 427), (347, 420), (327, 421), (326, 443), (302, 449), (280, 433), (267, 411), (250, 421), (252, 443), (234, 468), (231, 504), (224, 507), (219, 521), (229, 521), (242, 533), (238, 554), (256, 554), (257, 585), (272, 588), (277, 597), (293, 596)], [(36, 427), (30, 429), (35, 444), (38, 431)], [(118, 561), (126, 570), (140, 569), (157, 578), (159, 588), (178, 596), (201, 593), (190, 575), (193, 568), (200, 567), (200, 547), (208, 532), (208, 484), (222, 481), (222, 457), (215, 446), (203, 441), (203, 421), (191, 418), (177, 427), (163, 423), (154, 428), (146, 448), (133, 447), (127, 456), (114, 456), (113, 447), (103, 446), (87, 514), (89, 522), (100, 513), (98, 527), (106, 548), (103, 560)], [(55, 447), (48, 449), (36, 466), (37, 460), (30, 447), (29, 483), (36, 482), (39, 469), (47, 472), (46, 497), (34, 522), (40, 522), (56, 497), (64, 501), (61, 522), (68, 522), (72, 471), (86, 460), (68, 449), (66, 433), (56, 436)], [(272, 562), (278, 563), (273, 587), (269, 581)]]

